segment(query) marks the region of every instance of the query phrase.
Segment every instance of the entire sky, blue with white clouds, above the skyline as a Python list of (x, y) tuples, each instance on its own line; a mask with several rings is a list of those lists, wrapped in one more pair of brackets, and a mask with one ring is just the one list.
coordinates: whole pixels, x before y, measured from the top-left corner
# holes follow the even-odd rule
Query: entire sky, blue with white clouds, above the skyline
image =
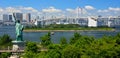
[(0, 0), (0, 15), (5, 13), (45, 14), (48, 17), (120, 16), (120, 0)]

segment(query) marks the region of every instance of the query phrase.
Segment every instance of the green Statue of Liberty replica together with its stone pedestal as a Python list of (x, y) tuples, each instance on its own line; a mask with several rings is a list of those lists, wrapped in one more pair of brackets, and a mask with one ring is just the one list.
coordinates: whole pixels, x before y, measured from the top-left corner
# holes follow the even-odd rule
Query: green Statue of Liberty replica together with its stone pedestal
[(23, 40), (23, 25), (20, 23), (20, 20), (16, 19), (15, 14), (13, 13), (13, 17), (15, 19), (15, 29), (16, 29), (16, 39), (12, 41), (13, 50), (24, 50), (25, 42)]

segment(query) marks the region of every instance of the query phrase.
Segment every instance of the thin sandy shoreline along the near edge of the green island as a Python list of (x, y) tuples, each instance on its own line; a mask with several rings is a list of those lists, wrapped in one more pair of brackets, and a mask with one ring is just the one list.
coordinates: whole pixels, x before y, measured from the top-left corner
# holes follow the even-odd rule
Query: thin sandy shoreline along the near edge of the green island
[(113, 30), (24, 30), (24, 32), (77, 32), (77, 31), (115, 31)]

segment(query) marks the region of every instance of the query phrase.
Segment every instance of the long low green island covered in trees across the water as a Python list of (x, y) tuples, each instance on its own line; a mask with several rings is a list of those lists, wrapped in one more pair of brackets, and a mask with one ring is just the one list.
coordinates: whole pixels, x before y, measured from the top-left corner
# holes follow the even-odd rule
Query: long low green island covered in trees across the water
[(101, 30), (101, 31), (113, 31), (113, 28), (109, 27), (81, 27), (78, 24), (51, 24), (44, 27), (40, 26), (28, 26), (25, 30)]

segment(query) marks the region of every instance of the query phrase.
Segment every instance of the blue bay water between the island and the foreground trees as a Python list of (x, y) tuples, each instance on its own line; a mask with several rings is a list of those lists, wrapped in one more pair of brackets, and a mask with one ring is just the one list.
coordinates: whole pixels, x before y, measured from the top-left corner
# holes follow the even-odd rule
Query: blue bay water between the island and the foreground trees
[[(49, 31), (48, 31), (49, 32)], [(23, 32), (23, 38), (25, 41), (40, 42), (40, 37), (44, 36), (48, 32)], [(55, 31), (54, 35), (51, 35), (53, 43), (59, 43), (60, 38), (65, 37), (67, 41), (73, 37), (74, 32), (78, 32), (81, 35), (93, 36), (97, 39), (104, 35), (114, 36), (120, 33), (120, 30), (115, 31)], [(0, 36), (8, 34), (12, 39), (15, 39), (15, 27), (14, 26), (0, 26)]]

